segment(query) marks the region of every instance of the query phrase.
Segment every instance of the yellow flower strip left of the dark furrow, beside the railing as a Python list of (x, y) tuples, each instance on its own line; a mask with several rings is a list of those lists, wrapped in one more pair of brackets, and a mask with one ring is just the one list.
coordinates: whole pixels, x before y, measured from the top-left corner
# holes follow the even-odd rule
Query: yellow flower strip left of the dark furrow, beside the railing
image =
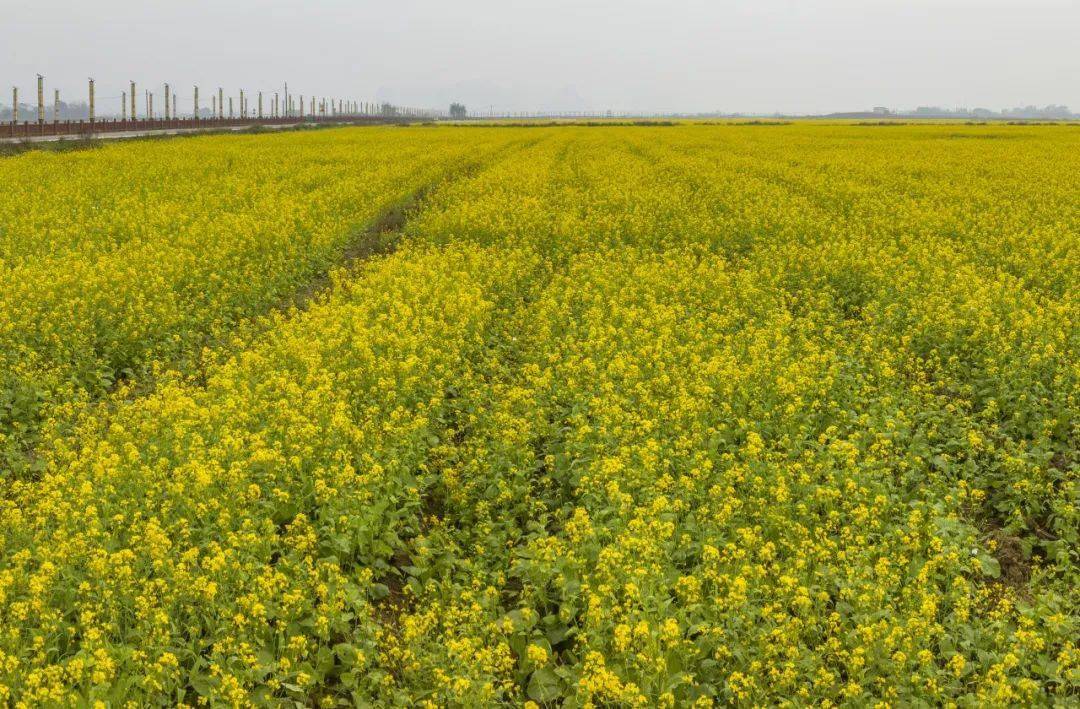
[(65, 406), (198, 359), (505, 142), (357, 130), (0, 161), (0, 467), (36, 466)]

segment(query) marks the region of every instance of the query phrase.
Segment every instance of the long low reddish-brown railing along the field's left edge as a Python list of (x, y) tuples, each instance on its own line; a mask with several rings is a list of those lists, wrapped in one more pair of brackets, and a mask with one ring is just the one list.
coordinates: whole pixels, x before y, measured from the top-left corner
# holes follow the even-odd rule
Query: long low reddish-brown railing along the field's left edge
[(2, 138), (35, 138), (42, 136), (85, 137), (98, 133), (141, 133), (146, 131), (214, 130), (254, 125), (295, 125), (297, 123), (407, 123), (426, 119), (405, 116), (298, 116), (278, 118), (171, 118), (165, 119), (100, 119), (96, 121), (24, 121), (0, 123)]

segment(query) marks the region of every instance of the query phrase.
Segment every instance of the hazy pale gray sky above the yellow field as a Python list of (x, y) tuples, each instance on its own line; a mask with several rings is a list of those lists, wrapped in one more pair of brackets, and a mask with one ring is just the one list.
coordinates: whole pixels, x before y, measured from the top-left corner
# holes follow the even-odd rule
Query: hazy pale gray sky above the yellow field
[[(1080, 0), (0, 0), (11, 85), (127, 80), (503, 110), (1068, 104)], [(160, 99), (159, 99), (160, 101)], [(113, 106), (112, 104), (116, 104)]]

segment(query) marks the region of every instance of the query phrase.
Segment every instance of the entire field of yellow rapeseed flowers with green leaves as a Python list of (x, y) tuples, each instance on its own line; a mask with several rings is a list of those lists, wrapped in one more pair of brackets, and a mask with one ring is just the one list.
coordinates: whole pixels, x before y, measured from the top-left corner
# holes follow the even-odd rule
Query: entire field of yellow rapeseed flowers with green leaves
[(1080, 703), (1080, 126), (0, 184), (0, 706)]

